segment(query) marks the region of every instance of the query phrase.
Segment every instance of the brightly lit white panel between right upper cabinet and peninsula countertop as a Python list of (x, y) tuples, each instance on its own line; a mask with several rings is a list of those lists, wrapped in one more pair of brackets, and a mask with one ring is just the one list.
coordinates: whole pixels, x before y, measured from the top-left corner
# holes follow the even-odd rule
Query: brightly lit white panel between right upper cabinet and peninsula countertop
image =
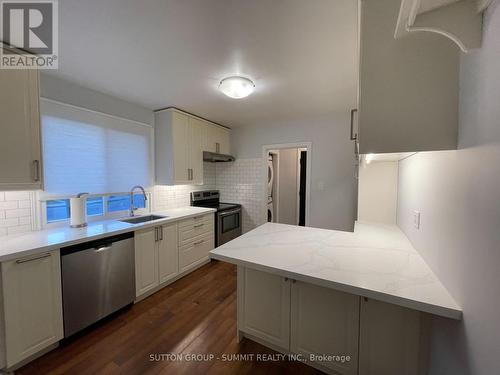
[(363, 163), (358, 186), (358, 220), (396, 224), (398, 162)]

